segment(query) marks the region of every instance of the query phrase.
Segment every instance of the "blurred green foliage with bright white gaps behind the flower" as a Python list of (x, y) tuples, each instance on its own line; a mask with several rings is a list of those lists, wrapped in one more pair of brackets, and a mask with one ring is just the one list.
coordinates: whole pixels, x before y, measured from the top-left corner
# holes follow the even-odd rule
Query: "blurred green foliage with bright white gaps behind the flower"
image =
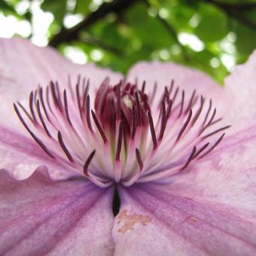
[(160, 59), (223, 83), (256, 47), (256, 0), (0, 0), (0, 37), (14, 35), (124, 74)]

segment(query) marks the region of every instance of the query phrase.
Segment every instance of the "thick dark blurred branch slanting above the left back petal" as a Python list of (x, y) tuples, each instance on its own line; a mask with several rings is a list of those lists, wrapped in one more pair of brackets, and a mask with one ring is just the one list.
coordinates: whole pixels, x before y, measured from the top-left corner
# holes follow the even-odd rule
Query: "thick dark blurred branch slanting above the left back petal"
[[(100, 5), (97, 11), (91, 13), (88, 17), (82, 20), (71, 29), (62, 28), (57, 35), (50, 40), (49, 45), (56, 47), (62, 42), (70, 42), (79, 38), (79, 34), (83, 29), (87, 29), (93, 23), (102, 20), (106, 15), (111, 13), (120, 13), (129, 8), (136, 0), (114, 0), (113, 2), (105, 2)], [(138, 2), (138, 1), (137, 1)]]

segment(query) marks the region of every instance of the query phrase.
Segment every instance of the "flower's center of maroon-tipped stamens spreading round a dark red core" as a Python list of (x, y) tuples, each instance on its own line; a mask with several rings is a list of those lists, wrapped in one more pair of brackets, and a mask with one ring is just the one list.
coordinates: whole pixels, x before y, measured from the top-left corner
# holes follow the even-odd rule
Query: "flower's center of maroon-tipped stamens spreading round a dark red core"
[(14, 109), (53, 161), (100, 187), (168, 181), (209, 154), (230, 127), (220, 125), (211, 99), (195, 90), (186, 97), (173, 81), (159, 93), (157, 84), (111, 86), (106, 78), (95, 99), (89, 87), (80, 76), (62, 93), (50, 82), (30, 93), (27, 108), (17, 102)]

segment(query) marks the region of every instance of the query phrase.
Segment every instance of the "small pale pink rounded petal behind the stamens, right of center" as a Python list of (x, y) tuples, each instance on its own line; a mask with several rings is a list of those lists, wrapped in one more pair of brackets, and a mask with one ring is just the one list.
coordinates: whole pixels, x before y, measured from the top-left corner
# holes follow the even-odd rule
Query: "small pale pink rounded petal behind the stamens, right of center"
[(139, 84), (146, 81), (149, 90), (152, 90), (154, 83), (157, 82), (157, 97), (163, 95), (163, 88), (169, 87), (172, 79), (176, 86), (185, 90), (187, 98), (196, 89), (199, 95), (212, 98), (214, 103), (218, 103), (219, 95), (223, 91), (222, 88), (213, 81), (209, 75), (195, 69), (190, 69), (170, 62), (139, 62), (128, 74), (131, 81), (138, 80)]

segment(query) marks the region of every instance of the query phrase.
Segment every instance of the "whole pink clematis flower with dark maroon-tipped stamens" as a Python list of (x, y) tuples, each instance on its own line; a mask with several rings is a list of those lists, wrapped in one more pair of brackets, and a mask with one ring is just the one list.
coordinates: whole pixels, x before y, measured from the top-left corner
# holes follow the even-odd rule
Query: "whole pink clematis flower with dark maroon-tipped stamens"
[(123, 78), (1, 39), (0, 254), (254, 255), (255, 69)]

